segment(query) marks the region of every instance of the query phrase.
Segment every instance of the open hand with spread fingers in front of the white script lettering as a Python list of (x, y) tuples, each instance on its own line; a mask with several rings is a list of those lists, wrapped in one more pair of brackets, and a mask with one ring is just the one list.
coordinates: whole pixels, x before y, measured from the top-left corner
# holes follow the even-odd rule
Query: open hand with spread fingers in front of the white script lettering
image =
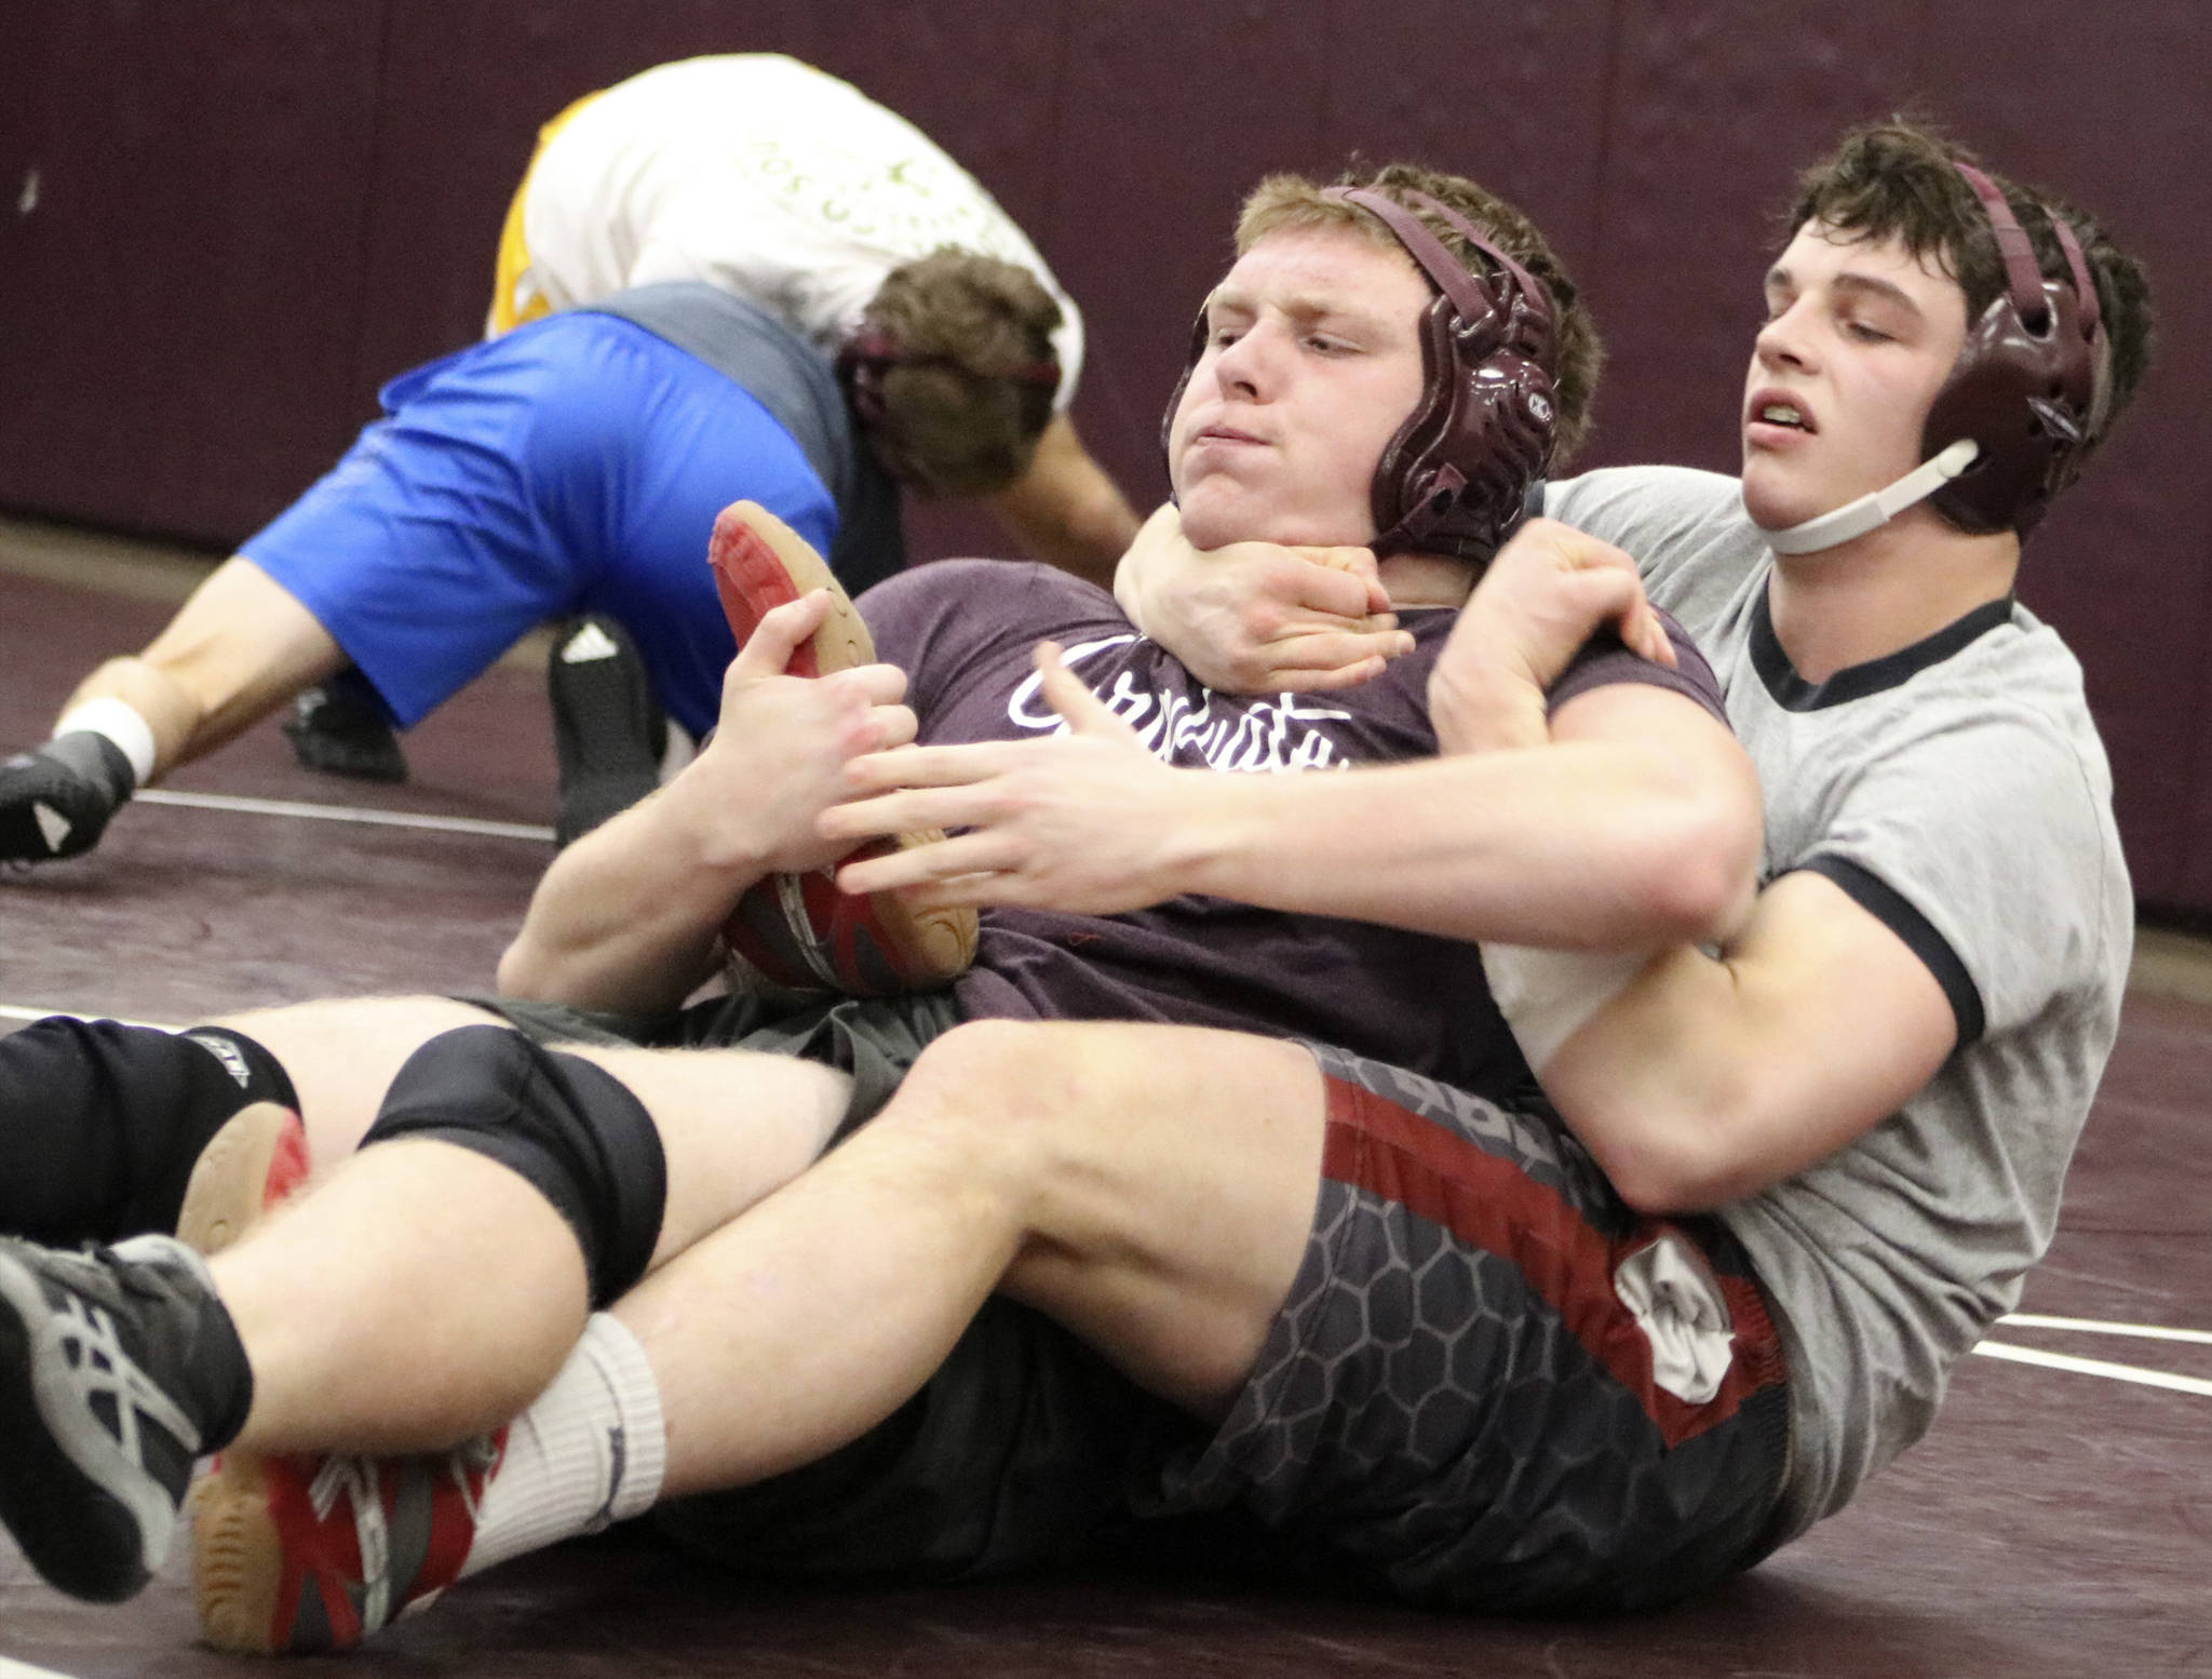
[(900, 887), (918, 905), (1024, 905), (1082, 914), (1141, 909), (1183, 891), (1177, 863), (1221, 781), (1170, 770), (1060, 661), (1037, 646), (1046, 703), (1064, 734), (982, 745), (918, 745), (847, 765), (854, 803), (823, 812), (834, 843), (916, 827), (964, 830), (933, 845), (849, 863), (845, 891)]

